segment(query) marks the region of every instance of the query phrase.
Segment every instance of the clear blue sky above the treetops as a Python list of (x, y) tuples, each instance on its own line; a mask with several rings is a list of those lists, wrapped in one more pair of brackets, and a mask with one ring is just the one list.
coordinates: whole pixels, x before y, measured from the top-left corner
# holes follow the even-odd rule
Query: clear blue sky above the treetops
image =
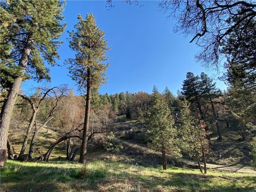
[[(189, 37), (173, 33), (176, 21), (166, 19), (166, 15), (158, 11), (156, 1), (142, 1), (142, 7), (120, 1), (114, 1), (114, 4), (114, 8), (107, 10), (106, 1), (67, 1), (63, 12), (67, 28), (61, 38), (63, 44), (59, 49), (61, 59), (58, 64), (62, 65), (65, 59), (74, 56), (68, 46), (67, 30), (73, 29), (77, 15), (85, 18), (86, 13), (93, 13), (111, 47), (107, 53), (109, 80), (107, 85), (101, 86), (100, 93), (151, 93), (155, 84), (161, 92), (168, 86), (176, 94), (188, 71), (196, 75), (204, 71), (210, 77), (216, 77), (214, 71), (207, 71), (196, 63), (194, 55), (198, 48), (189, 43)], [(77, 93), (76, 83), (68, 76), (66, 66), (50, 67), (50, 74), (48, 86), (68, 84)], [(38, 85), (29, 80), (22, 84), (22, 89), (27, 91)], [(217, 86), (222, 90), (226, 87), (220, 81)]]

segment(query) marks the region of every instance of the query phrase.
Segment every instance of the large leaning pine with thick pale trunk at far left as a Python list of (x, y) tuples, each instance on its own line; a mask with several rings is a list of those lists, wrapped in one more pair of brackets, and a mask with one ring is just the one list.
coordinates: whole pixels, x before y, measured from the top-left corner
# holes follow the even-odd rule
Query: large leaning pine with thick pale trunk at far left
[[(55, 65), (54, 59), (59, 58), (58, 39), (65, 27), (61, 24), (64, 4), (57, 0), (1, 2), (1, 15), (4, 12), (7, 19), (4, 22), (6, 30), (1, 30), (0, 34), (5, 39), (0, 47), (1, 82), (4, 80), (8, 84), (4, 86), (10, 87), (1, 111), (1, 150), (6, 149), (11, 115), (21, 82), (28, 77), (50, 79), (44, 61)], [(6, 79), (7, 76), (10, 78)]]

